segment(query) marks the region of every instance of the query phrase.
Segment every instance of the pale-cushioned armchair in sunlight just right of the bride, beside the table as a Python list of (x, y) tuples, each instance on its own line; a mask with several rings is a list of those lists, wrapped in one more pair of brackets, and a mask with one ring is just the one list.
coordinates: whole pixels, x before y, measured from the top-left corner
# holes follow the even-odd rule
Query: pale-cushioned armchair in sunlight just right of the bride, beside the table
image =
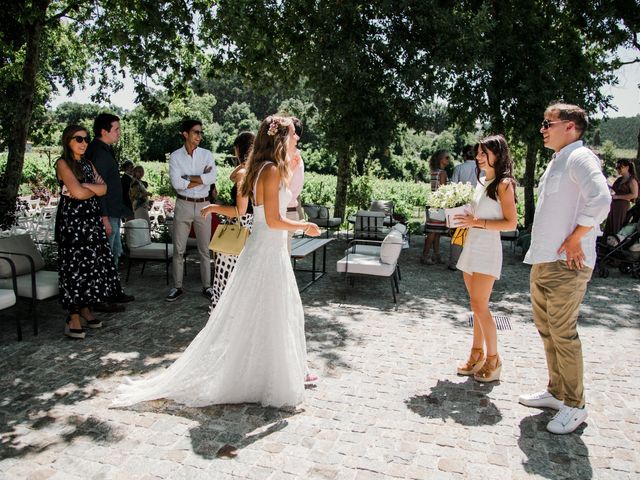
[[(345, 274), (351, 285), (355, 276), (388, 277), (393, 302), (397, 303), (396, 292), (400, 293), (398, 258), (402, 252), (402, 243), (402, 234), (397, 230), (391, 231), (381, 242), (352, 240), (346, 255), (338, 260), (336, 269)], [(378, 248), (379, 251), (376, 251)]]

